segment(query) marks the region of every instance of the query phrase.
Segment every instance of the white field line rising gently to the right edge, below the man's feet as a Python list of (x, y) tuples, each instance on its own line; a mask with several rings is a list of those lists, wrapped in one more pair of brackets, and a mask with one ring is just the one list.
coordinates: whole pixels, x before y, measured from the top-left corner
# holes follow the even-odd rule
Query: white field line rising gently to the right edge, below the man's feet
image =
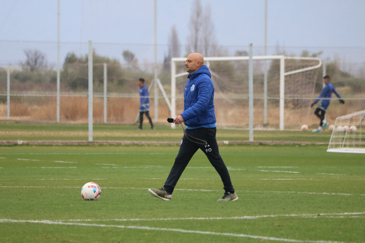
[(68, 219), (57, 221), (170, 221), (170, 220), (249, 220), (258, 218), (274, 218), (274, 217), (359, 217), (365, 216), (365, 212), (343, 212), (343, 213), (316, 213), (316, 214), (274, 214), (274, 215), (253, 215), (253, 216), (235, 216), (235, 217), (181, 217), (181, 218), (115, 218), (115, 219)]

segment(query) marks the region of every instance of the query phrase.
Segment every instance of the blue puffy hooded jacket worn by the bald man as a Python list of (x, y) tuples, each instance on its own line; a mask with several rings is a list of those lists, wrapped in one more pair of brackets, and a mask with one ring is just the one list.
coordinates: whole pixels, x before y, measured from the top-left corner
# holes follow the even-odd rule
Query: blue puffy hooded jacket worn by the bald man
[(190, 129), (215, 127), (217, 120), (214, 113), (214, 85), (211, 76), (206, 65), (188, 75), (189, 80), (184, 91), (184, 112), (181, 116)]

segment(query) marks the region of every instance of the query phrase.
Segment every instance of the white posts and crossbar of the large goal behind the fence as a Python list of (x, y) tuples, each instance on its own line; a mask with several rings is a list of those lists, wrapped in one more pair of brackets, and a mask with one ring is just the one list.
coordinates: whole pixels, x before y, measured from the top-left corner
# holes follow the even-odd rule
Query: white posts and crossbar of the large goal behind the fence
[[(205, 57), (205, 62), (210, 61), (249, 61), (249, 56), (244, 57)], [(317, 65), (310, 66), (307, 68), (297, 69), (290, 72), (285, 72), (285, 60), (286, 59), (295, 59), (295, 60), (315, 60), (318, 61)], [(252, 60), (280, 60), (280, 94), (279, 94), (279, 130), (284, 130), (284, 100), (285, 100), (285, 76), (296, 74), (300, 72), (305, 72), (308, 70), (316, 69), (321, 67), (322, 61), (320, 58), (316, 57), (287, 57), (283, 55), (279, 56), (253, 56)], [(186, 72), (184, 73), (178, 73), (176, 74), (176, 63), (177, 62), (185, 62), (186, 58), (172, 58), (171, 59), (171, 117), (176, 117), (176, 78), (180, 76), (187, 75)], [(251, 65), (251, 68), (253, 68), (253, 65)], [(252, 70), (251, 70), (252, 71)], [(249, 71), (250, 73), (250, 71)], [(266, 93), (265, 93), (266, 94)], [(253, 95), (253, 94), (252, 94)], [(249, 97), (250, 99), (251, 97)], [(267, 101), (267, 96), (264, 97), (264, 102)], [(250, 109), (253, 109), (253, 107), (250, 107)], [(265, 114), (266, 114), (266, 107), (265, 107)], [(171, 128), (174, 128), (175, 124), (171, 124)]]

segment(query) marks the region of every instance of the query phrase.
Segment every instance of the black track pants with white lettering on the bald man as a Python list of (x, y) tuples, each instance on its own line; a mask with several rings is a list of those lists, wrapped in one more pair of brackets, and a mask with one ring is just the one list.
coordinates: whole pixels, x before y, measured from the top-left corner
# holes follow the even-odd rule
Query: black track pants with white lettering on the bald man
[[(195, 152), (200, 148), (208, 157), (209, 161), (213, 167), (217, 170), (218, 174), (221, 176), (224, 190), (233, 193), (235, 189), (233, 188), (228, 169), (219, 154), (218, 144), (216, 140), (216, 128), (198, 128), (198, 129), (186, 129), (190, 139), (197, 141), (198, 143), (203, 143), (200, 140), (196, 140), (192, 137), (203, 139), (208, 142), (207, 145), (197, 144), (192, 142), (184, 134), (180, 144), (180, 149), (175, 158), (175, 163), (173, 164), (170, 174), (168, 175), (166, 182), (164, 184), (164, 189), (172, 193), (177, 180), (180, 178), (182, 172), (187, 167), (190, 159), (193, 157)], [(191, 137), (192, 136), (192, 137)]]

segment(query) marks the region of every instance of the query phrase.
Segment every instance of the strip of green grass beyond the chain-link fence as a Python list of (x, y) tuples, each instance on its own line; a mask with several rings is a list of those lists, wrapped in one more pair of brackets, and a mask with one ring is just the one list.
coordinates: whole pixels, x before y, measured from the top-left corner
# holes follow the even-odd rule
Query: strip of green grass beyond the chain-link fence
[[(163, 141), (179, 143), (182, 137), (180, 126), (171, 129), (168, 125), (157, 125), (150, 130), (148, 125), (136, 131), (137, 125), (94, 124), (94, 141)], [(311, 130), (268, 131), (255, 130), (254, 140), (257, 142), (275, 143), (320, 143), (328, 144), (331, 133), (325, 130), (312, 133)], [(87, 124), (42, 124), (21, 122), (0, 122), (0, 140), (2, 141), (88, 141)], [(249, 141), (249, 131), (240, 129), (217, 130), (218, 141)]]

